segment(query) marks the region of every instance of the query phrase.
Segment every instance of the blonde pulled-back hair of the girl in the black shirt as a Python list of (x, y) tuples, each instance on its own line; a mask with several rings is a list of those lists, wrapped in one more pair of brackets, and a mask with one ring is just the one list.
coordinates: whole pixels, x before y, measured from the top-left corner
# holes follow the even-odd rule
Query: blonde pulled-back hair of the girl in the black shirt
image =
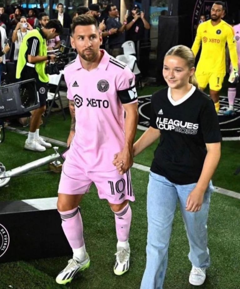
[[(169, 55), (173, 55), (173, 56), (178, 56), (181, 59), (184, 59), (186, 61), (186, 64), (188, 66), (189, 69), (191, 69), (192, 67), (194, 67), (194, 63), (195, 63), (195, 56), (193, 54), (193, 52), (191, 51), (191, 49), (185, 45), (176, 45), (173, 46), (172, 48), (170, 48), (168, 50), (168, 52), (165, 54), (166, 56)], [(165, 58), (164, 57), (164, 58)], [(199, 85), (197, 83), (197, 79), (195, 74), (193, 74), (192, 76), (190, 76), (189, 78), (189, 83), (191, 83), (192, 85), (196, 86), (197, 88), (199, 88)]]

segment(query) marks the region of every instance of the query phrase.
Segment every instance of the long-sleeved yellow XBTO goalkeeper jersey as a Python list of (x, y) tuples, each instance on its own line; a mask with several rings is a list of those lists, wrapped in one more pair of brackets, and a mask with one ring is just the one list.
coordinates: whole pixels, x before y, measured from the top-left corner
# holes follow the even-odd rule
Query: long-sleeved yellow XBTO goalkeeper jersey
[(197, 35), (191, 48), (196, 56), (200, 44), (202, 44), (202, 52), (197, 64), (198, 73), (226, 73), (226, 43), (229, 47), (232, 66), (237, 67), (237, 45), (232, 26), (223, 20), (215, 26), (212, 25), (211, 20), (198, 26)]

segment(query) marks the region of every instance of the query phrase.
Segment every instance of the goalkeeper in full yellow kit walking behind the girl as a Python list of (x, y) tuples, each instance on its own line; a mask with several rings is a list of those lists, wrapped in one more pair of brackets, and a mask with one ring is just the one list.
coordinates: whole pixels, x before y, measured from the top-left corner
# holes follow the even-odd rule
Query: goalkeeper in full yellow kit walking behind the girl
[(202, 52), (195, 75), (202, 90), (209, 84), (210, 97), (217, 112), (220, 108), (219, 91), (226, 74), (226, 43), (233, 67), (228, 81), (238, 81), (237, 45), (232, 26), (222, 20), (225, 16), (225, 10), (224, 2), (214, 2), (211, 8), (211, 19), (198, 26), (197, 35), (191, 48), (196, 56), (200, 44), (202, 44)]

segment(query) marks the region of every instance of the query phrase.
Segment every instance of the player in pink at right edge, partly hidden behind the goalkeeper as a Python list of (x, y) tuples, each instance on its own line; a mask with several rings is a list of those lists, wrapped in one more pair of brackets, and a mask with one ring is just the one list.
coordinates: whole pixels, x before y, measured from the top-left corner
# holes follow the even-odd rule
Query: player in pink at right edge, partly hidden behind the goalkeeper
[[(240, 75), (240, 23), (237, 25), (233, 26), (233, 30), (234, 30), (234, 35), (235, 35), (235, 39), (236, 39), (236, 43), (237, 43), (237, 56), (238, 56), (238, 75)], [(230, 65), (230, 75), (232, 74), (232, 63)], [(234, 100), (237, 94), (237, 83), (238, 83), (238, 79), (234, 82), (232, 82), (232, 80), (229, 77), (228, 80), (228, 90), (227, 90), (227, 98), (228, 98), (228, 104), (229, 107), (227, 109), (227, 111), (225, 111), (225, 115), (227, 116), (232, 116), (235, 114), (234, 111)]]

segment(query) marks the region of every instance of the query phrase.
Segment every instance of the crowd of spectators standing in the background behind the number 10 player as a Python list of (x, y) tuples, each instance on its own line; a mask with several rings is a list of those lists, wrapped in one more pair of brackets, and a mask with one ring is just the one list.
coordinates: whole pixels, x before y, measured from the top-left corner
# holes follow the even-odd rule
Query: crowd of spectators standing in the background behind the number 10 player
[[(103, 37), (101, 48), (106, 48), (107, 45), (107, 50), (112, 56), (116, 57), (119, 54), (123, 54), (121, 45), (125, 41), (133, 40), (136, 45), (138, 40), (144, 41), (145, 30), (150, 29), (150, 24), (147, 22), (144, 12), (140, 11), (138, 5), (133, 6), (128, 11), (129, 13), (124, 15), (124, 21), (121, 23), (119, 11), (114, 4), (90, 4), (89, 7), (80, 6), (75, 9), (71, 17), (69, 13), (64, 12), (64, 5), (58, 3), (56, 11), (53, 14), (53, 19), (58, 19), (63, 28), (69, 29), (70, 36), (72, 20), (75, 17), (82, 14), (93, 16), (97, 20), (99, 30)], [(27, 10), (21, 6), (3, 7), (0, 5), (0, 27), (4, 29), (0, 30), (2, 32), (1, 39), (4, 38), (2, 34), (3, 31), (5, 31), (8, 41), (4, 38), (3, 46), (6, 46), (6, 42), (9, 42), (10, 47), (6, 47), (6, 53), (10, 48), (13, 48), (8, 54), (8, 59), (15, 63), (15, 68), (23, 37), (34, 28), (44, 27), (49, 20), (50, 17), (48, 13), (44, 11), (43, 7), (40, 9), (30, 8)], [(48, 40), (48, 50), (59, 49), (61, 40), (59, 37)], [(64, 45), (66, 45), (66, 43), (64, 43)], [(68, 45), (70, 46), (70, 43), (68, 43)], [(146, 55), (146, 51), (143, 51), (142, 54)], [(143, 71), (144, 66), (147, 67), (147, 60), (141, 61), (140, 69), (142, 68)]]

